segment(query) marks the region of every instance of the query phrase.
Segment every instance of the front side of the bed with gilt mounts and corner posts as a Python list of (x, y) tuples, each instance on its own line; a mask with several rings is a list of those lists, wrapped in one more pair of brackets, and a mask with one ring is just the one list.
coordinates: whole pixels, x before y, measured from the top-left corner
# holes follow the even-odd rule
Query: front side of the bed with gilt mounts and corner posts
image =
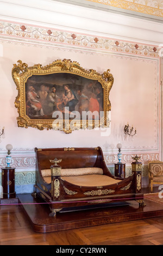
[[(55, 202), (54, 205), (51, 205), (51, 214), (50, 216), (55, 216), (56, 212), (62, 210), (64, 207), (71, 206), (83, 206), (86, 204), (100, 204), (100, 203), (109, 203), (115, 201), (122, 200), (136, 200), (139, 203), (139, 206), (145, 206), (145, 202), (143, 201), (143, 194), (141, 192), (141, 172), (142, 165), (141, 163), (132, 163), (133, 175), (127, 179), (124, 179), (119, 188), (117, 189), (117, 193), (112, 194), (115, 190), (115, 185), (112, 186), (113, 189), (106, 189), (106, 187), (102, 190), (102, 187), (96, 187), (96, 190), (89, 191), (89, 193), (84, 193), (84, 188), (81, 188), (83, 194), (86, 194), (87, 197), (82, 197), (80, 194), (79, 197), (75, 197), (75, 194), (78, 193), (78, 188), (76, 186), (71, 186), (69, 189), (67, 188), (66, 182), (63, 182), (61, 179), (61, 167), (58, 165), (60, 160), (55, 159), (54, 165), (51, 166), (51, 184), (52, 184), (52, 201)], [(115, 179), (116, 182), (116, 179)], [(65, 185), (66, 184), (66, 185)], [(127, 184), (127, 185), (126, 185)], [(65, 185), (65, 186), (64, 186)], [(118, 183), (116, 184), (118, 185)], [(95, 189), (95, 188), (94, 188)], [(123, 193), (122, 193), (123, 191)], [(125, 193), (127, 192), (127, 193)], [(73, 199), (65, 199), (65, 194), (71, 196)], [(73, 196), (73, 197), (72, 197)], [(92, 198), (90, 197), (92, 196)], [(65, 200), (64, 200), (65, 199)], [(70, 206), (71, 205), (71, 206)], [(54, 207), (54, 208), (53, 208)]]

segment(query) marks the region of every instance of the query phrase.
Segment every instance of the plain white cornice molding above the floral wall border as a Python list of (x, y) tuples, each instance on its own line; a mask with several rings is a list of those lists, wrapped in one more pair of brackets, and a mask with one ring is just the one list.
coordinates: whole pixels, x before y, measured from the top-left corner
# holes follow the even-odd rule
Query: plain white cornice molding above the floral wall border
[(163, 24), (48, 0), (0, 0), (0, 19), (161, 44)]

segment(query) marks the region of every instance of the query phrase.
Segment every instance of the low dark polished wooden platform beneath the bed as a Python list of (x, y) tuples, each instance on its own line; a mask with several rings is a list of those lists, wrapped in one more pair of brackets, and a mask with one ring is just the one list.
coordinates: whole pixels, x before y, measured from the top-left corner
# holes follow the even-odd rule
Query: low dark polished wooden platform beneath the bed
[(108, 204), (109, 207), (100, 205), (101, 208), (96, 209), (57, 212), (55, 217), (49, 217), (49, 205), (41, 198), (31, 194), (17, 194), (17, 197), (34, 231), (39, 233), (163, 216), (163, 204), (145, 199), (146, 206), (140, 208), (139, 203), (129, 201), (119, 206)]

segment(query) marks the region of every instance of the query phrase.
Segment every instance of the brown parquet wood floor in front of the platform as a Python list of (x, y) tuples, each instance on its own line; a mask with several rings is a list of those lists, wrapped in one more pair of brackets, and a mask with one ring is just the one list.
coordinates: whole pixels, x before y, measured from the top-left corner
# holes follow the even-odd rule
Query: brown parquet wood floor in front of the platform
[(162, 245), (163, 216), (36, 233), (20, 205), (0, 205), (0, 245)]

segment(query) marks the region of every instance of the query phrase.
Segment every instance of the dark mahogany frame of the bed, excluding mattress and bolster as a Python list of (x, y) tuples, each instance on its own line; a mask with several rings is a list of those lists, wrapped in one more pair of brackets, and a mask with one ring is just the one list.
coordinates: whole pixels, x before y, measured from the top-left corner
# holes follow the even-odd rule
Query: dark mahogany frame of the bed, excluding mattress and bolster
[[(106, 167), (101, 147), (97, 148), (65, 148), (37, 149), (36, 152), (36, 186), (35, 192), (42, 197), (51, 207), (50, 215), (55, 215), (60, 209), (75, 206), (84, 206), (95, 204), (96, 200), (139, 200), (140, 205), (143, 202), (143, 193), (141, 191), (141, 171), (135, 170), (133, 175), (126, 179), (113, 176)], [(114, 184), (104, 186), (79, 186), (61, 179), (60, 174), (52, 174), (51, 183), (47, 184), (42, 177), (41, 170), (49, 169), (51, 162), (57, 158), (62, 161), (59, 166), (63, 169), (68, 168), (87, 168), (96, 167), (103, 169), (103, 174), (114, 179)], [(53, 166), (53, 169), (58, 167)], [(76, 170), (76, 172), (77, 172)], [(55, 173), (55, 172), (54, 172)], [(140, 176), (140, 180), (137, 176)], [(55, 182), (56, 181), (56, 182)], [(117, 182), (121, 181), (121, 182)], [(57, 184), (57, 188), (55, 185)], [(53, 185), (51, 185), (53, 184)], [(139, 185), (139, 186), (138, 186)], [(56, 193), (57, 191), (57, 193)]]

